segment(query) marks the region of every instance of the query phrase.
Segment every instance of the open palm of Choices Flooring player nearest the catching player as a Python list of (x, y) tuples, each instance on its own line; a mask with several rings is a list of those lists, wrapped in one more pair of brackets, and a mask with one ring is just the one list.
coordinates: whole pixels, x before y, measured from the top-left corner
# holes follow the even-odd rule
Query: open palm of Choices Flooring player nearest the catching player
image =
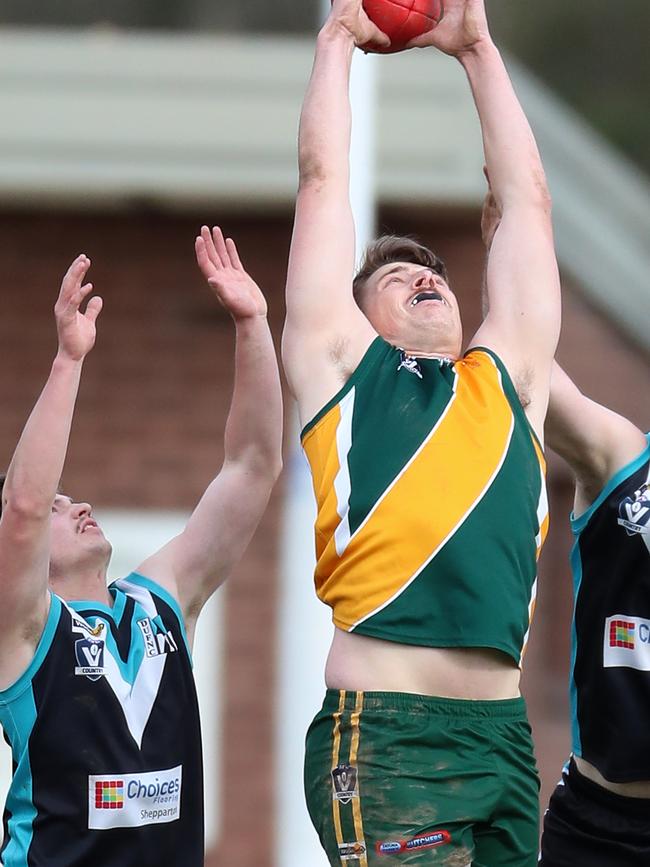
[(203, 276), (233, 319), (266, 316), (266, 300), (245, 271), (232, 238), (224, 239), (218, 226), (212, 232), (202, 226), (194, 248)]

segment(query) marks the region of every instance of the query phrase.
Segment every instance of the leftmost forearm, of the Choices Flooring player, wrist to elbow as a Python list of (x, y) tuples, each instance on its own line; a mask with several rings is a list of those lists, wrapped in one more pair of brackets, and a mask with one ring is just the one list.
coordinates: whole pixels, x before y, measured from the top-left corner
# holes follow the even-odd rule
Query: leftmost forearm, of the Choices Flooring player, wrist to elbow
[(82, 361), (60, 354), (25, 425), (3, 489), (5, 503), (34, 517), (48, 515), (68, 448)]

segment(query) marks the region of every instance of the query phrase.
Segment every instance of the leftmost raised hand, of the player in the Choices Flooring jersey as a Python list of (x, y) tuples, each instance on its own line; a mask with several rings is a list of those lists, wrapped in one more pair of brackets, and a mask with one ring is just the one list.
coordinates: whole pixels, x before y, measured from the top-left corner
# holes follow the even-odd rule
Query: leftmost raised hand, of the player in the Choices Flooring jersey
[(81, 361), (95, 345), (95, 322), (103, 304), (95, 295), (88, 301), (85, 312), (81, 312), (81, 305), (93, 289), (92, 283), (83, 282), (89, 268), (90, 259), (83, 253), (77, 256), (63, 278), (54, 305), (59, 354), (73, 361)]

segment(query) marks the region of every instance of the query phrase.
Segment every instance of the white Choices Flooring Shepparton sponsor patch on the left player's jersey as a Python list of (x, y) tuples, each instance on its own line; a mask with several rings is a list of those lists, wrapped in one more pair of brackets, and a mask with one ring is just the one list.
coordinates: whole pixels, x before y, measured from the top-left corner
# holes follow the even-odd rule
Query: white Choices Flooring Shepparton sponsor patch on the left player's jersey
[(88, 777), (88, 827), (137, 828), (175, 822), (181, 814), (183, 766), (140, 774)]

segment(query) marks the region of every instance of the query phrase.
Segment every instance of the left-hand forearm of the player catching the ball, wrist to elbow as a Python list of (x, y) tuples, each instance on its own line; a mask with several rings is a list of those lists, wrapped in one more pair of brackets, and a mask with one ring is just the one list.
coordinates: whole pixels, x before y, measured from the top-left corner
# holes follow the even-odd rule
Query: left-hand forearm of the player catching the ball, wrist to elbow
[(300, 183), (348, 184), (352, 115), (349, 85), (354, 40), (329, 21), (321, 30), (300, 116)]

